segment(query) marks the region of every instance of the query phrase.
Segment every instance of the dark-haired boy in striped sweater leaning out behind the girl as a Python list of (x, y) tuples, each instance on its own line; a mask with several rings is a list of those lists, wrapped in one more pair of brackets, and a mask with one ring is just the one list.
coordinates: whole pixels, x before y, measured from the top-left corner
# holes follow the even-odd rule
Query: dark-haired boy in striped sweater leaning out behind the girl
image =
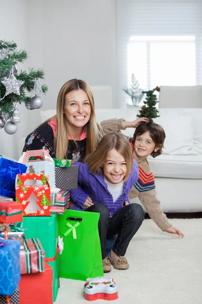
[(133, 158), (139, 167), (139, 178), (132, 186), (129, 198), (138, 197), (146, 209), (150, 218), (160, 227), (162, 231), (177, 234), (184, 237), (184, 234), (169, 223), (166, 214), (160, 206), (160, 201), (156, 197), (156, 186), (154, 174), (151, 171), (147, 157), (157, 157), (162, 154), (165, 140), (164, 129), (157, 124), (151, 124), (146, 118), (140, 118), (133, 122), (124, 119), (112, 119), (101, 123), (104, 133), (121, 133), (126, 128), (136, 128), (134, 135), (130, 138)]

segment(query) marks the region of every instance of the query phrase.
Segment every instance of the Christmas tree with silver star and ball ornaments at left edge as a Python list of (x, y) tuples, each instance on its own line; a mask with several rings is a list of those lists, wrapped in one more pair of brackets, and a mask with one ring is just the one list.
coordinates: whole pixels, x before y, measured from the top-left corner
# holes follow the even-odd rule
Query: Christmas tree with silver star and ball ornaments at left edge
[[(47, 86), (39, 82), (44, 78), (42, 69), (18, 71), (17, 63), (26, 59), (26, 51), (18, 51), (16, 43), (0, 41), (0, 129), (8, 134), (18, 129), (18, 103), (24, 103), (28, 110), (40, 108), (43, 103), (38, 95), (47, 91)], [(27, 96), (27, 92), (34, 96)]]

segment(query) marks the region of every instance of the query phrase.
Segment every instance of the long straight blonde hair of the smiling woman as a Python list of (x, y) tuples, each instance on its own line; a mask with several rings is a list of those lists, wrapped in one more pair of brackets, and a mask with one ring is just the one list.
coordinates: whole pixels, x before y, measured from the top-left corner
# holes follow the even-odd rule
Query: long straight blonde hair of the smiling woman
[(95, 111), (94, 111), (94, 99), (92, 92), (89, 86), (83, 81), (79, 79), (72, 79), (66, 82), (59, 94), (57, 101), (57, 130), (54, 138), (54, 150), (55, 157), (59, 159), (67, 158), (67, 149), (68, 149), (68, 122), (64, 114), (64, 106), (65, 106), (65, 96), (74, 90), (83, 90), (88, 96), (91, 106), (91, 115), (88, 123), (84, 126), (86, 131), (86, 156), (92, 153), (99, 139), (102, 137), (102, 129), (96, 123), (95, 119)]

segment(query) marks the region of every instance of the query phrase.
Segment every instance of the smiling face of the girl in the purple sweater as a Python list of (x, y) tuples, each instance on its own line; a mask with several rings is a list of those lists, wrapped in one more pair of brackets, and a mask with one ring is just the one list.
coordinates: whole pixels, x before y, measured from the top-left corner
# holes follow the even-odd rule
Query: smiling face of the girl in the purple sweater
[(113, 148), (107, 153), (103, 172), (107, 181), (118, 184), (123, 181), (127, 173), (127, 165), (124, 157)]

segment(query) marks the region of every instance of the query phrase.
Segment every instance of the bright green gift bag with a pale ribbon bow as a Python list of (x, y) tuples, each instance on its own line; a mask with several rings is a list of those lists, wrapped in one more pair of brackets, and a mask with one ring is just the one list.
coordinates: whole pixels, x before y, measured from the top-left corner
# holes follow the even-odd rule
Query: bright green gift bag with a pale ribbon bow
[(85, 281), (104, 275), (98, 220), (95, 212), (67, 209), (58, 215), (59, 236), (64, 243), (59, 254), (61, 278)]

